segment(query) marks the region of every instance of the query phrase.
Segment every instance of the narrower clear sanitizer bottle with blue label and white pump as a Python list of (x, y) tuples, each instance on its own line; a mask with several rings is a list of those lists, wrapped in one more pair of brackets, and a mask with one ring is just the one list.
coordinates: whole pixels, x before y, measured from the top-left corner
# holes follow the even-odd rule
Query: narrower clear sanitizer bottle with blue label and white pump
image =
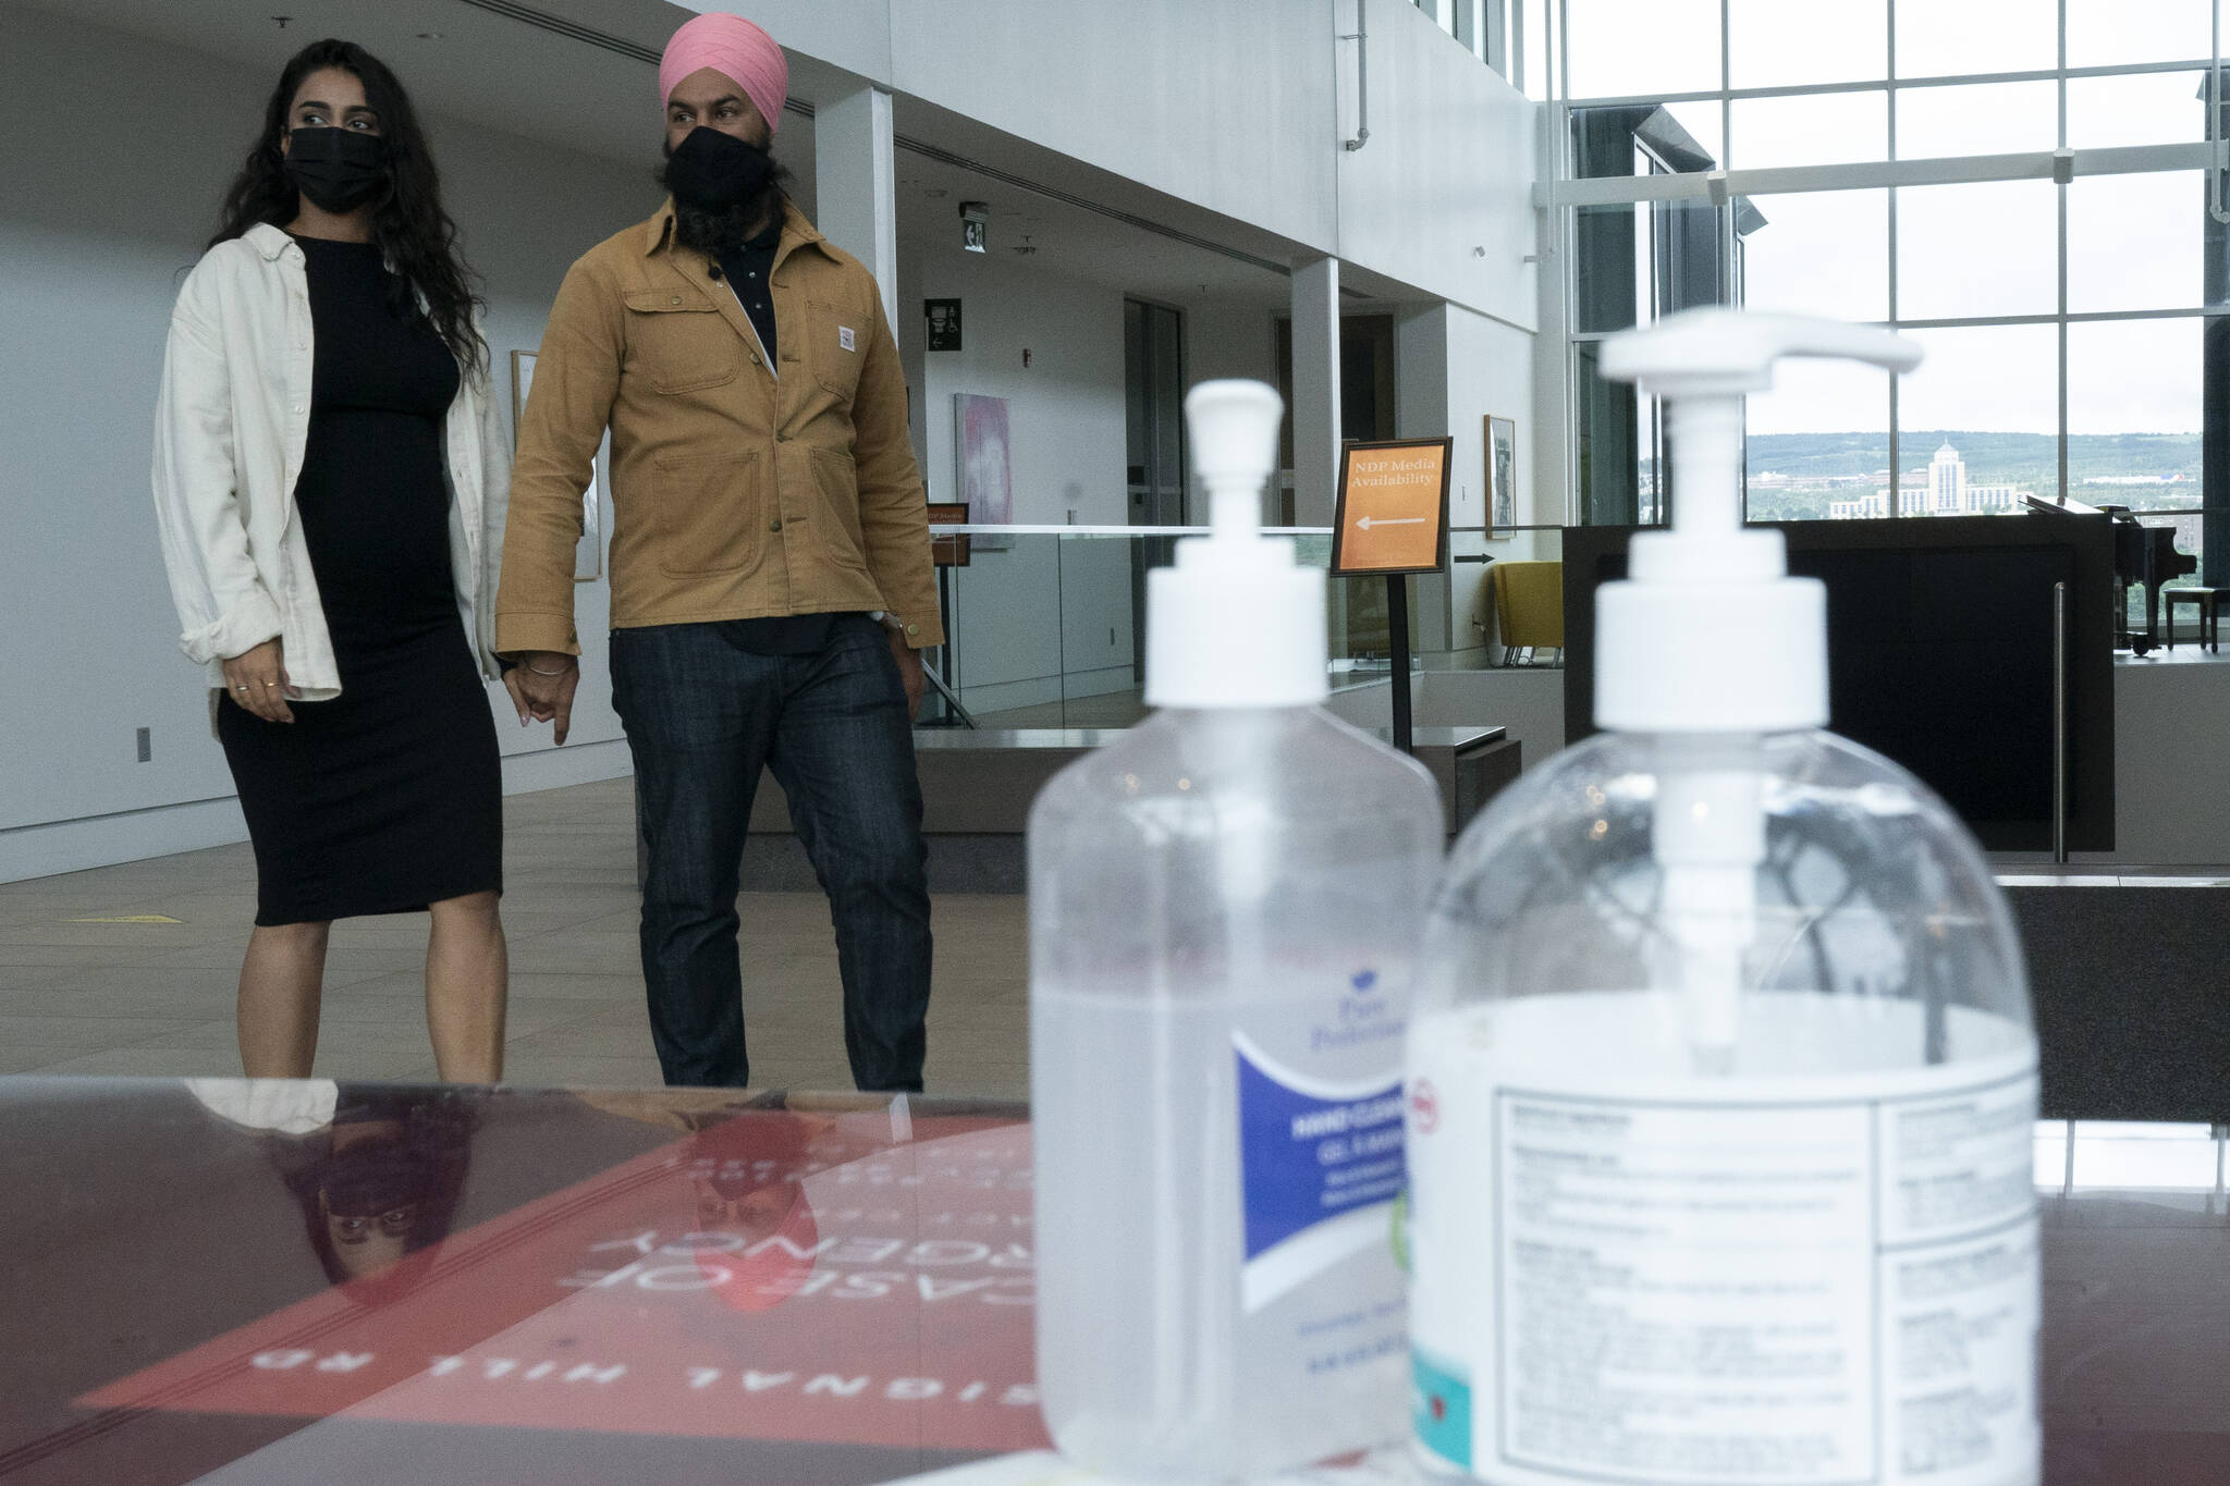
[(1077, 1464), (1233, 1482), (1403, 1433), (1400, 1058), (1447, 827), (1320, 706), (1325, 575), (1258, 526), (1278, 394), (1184, 408), (1213, 526), (1146, 579), (1157, 711), (1030, 811), (1037, 1377)]

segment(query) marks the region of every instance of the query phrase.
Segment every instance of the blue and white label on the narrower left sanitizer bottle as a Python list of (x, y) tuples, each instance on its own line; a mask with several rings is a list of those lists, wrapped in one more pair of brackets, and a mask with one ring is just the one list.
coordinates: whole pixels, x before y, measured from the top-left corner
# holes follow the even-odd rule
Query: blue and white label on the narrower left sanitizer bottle
[(1403, 1187), (1403, 1094), (1396, 1078), (1329, 1083), (1280, 1065), (1233, 1036), (1240, 1094), (1240, 1187), (1247, 1219), (1247, 1310), (1260, 1310), (1340, 1259), (1392, 1243)]

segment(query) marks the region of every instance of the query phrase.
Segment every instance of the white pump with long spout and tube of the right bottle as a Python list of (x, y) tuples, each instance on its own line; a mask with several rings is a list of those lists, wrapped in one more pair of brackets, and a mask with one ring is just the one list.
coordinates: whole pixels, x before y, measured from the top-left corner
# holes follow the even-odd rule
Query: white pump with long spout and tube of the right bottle
[(1920, 348), (1867, 325), (1690, 310), (1612, 336), (1601, 361), (1668, 405), (1672, 530), (1639, 532), (1628, 581), (1597, 588), (1594, 720), (1672, 735), (1650, 824), (1666, 925), (1655, 976), (1699, 1074), (1739, 1072), (1766, 858), (1757, 735), (1826, 724), (1826, 588), (1788, 577), (1777, 530), (1742, 526), (1742, 399), (1773, 385), (1782, 356), (1907, 372)]

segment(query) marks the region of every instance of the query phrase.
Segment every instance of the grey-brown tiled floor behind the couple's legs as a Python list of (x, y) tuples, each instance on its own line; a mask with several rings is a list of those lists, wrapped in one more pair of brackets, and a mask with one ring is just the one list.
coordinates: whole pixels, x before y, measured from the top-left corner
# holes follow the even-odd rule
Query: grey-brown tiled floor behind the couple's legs
[[(631, 782), (504, 802), (511, 1083), (656, 1085), (636, 960)], [(818, 893), (745, 893), (752, 1076), (847, 1089), (836, 947)], [(98, 922), (98, 920), (163, 922)], [(174, 922), (169, 922), (174, 920)], [(239, 1074), (232, 1003), (254, 920), (245, 844), (0, 884), (0, 1074)], [(1021, 898), (939, 898), (934, 1094), (1026, 1094)], [(433, 1078), (426, 918), (332, 929), (317, 1072)]]

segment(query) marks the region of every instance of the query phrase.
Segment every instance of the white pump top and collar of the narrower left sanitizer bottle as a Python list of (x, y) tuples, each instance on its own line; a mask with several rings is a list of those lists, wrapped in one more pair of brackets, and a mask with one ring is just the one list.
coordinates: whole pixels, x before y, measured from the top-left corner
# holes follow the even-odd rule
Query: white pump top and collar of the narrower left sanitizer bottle
[(1146, 575), (1148, 706), (1316, 706), (1325, 677), (1325, 575), (1262, 535), (1284, 399), (1260, 381), (1204, 381), (1184, 399), (1209, 535)]

